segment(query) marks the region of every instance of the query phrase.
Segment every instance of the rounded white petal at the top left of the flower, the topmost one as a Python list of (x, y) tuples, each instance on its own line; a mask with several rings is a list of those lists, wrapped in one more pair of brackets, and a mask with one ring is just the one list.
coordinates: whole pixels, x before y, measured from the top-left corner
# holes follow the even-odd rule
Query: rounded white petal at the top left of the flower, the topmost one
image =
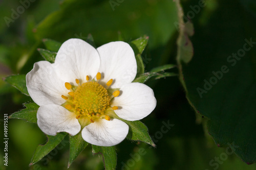
[(75, 79), (85, 82), (86, 76), (94, 78), (98, 72), (100, 58), (97, 50), (81, 39), (69, 39), (59, 48), (55, 66), (60, 77), (66, 82), (75, 83)]

